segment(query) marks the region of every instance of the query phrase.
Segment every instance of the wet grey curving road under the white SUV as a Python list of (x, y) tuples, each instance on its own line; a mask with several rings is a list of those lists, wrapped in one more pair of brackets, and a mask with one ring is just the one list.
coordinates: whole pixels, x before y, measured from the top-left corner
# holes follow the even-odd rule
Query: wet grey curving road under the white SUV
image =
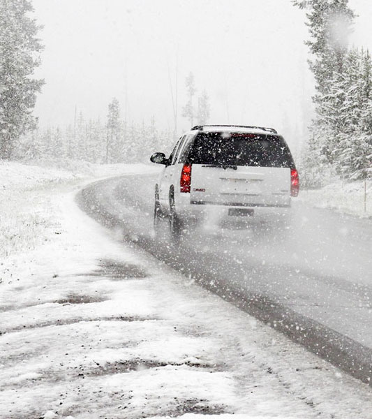
[(293, 206), (290, 230), (200, 230), (177, 247), (152, 229), (154, 175), (87, 187), (81, 205), (126, 238), (370, 383), (372, 223)]

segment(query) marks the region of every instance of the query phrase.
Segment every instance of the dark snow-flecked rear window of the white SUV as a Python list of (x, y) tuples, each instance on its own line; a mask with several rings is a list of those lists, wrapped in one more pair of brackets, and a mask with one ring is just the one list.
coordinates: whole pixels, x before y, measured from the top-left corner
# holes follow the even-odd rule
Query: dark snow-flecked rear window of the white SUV
[(187, 162), (217, 166), (294, 167), (283, 138), (249, 133), (200, 133), (188, 153)]

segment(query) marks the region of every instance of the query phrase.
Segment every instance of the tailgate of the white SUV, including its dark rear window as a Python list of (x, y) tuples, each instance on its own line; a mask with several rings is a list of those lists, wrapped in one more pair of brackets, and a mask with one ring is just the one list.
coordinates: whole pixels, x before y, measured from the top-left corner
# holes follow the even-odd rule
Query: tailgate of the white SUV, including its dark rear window
[(294, 163), (279, 135), (199, 133), (187, 162), (192, 164), (191, 203), (290, 205)]

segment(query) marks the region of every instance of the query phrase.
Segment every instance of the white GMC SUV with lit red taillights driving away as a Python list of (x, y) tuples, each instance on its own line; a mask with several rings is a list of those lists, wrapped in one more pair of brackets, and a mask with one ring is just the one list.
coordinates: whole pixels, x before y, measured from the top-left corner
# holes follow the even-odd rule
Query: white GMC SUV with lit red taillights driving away
[(164, 170), (155, 186), (154, 224), (168, 217), (173, 235), (194, 220), (280, 213), (299, 192), (290, 149), (273, 128), (195, 126), (167, 159), (151, 156)]

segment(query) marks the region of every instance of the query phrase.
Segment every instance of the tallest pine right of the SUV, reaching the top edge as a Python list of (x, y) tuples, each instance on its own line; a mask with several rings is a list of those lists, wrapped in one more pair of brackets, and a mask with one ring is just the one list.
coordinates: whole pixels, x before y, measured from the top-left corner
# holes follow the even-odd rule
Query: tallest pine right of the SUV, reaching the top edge
[[(313, 96), (316, 117), (311, 126), (307, 160), (318, 170), (328, 170), (336, 163), (339, 135), (342, 133), (345, 105), (345, 57), (348, 36), (355, 17), (348, 0), (293, 0), (295, 6), (306, 9), (306, 24), (311, 35), (306, 45), (313, 54), (309, 66), (315, 78)], [(305, 167), (305, 170), (313, 170)]]

